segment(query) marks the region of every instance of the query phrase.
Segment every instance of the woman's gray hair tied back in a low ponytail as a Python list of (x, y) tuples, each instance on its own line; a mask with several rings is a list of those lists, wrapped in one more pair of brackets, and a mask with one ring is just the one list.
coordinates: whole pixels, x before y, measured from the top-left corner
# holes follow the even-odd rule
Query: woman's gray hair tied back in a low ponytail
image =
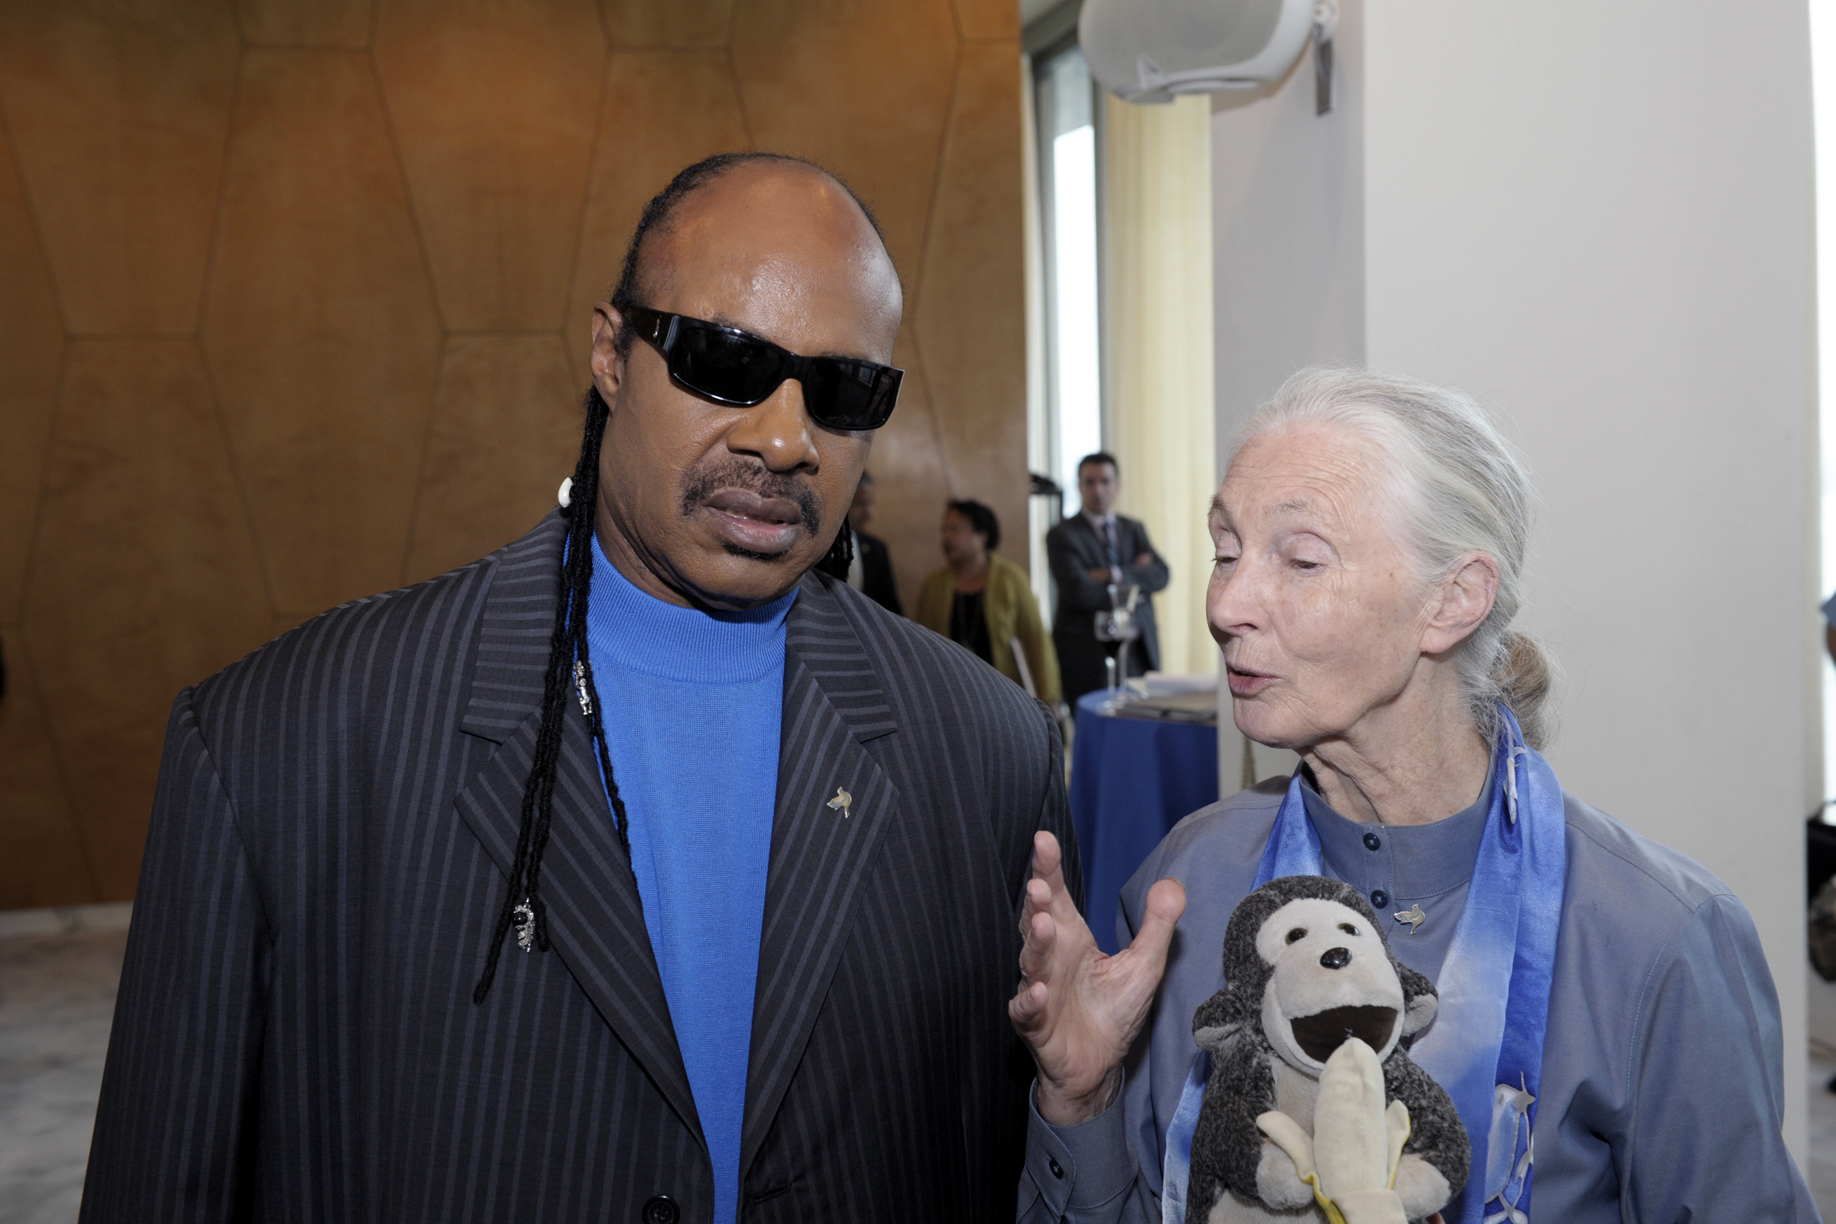
[(1397, 527), (1425, 585), (1445, 582), (1461, 556), (1498, 563), (1491, 613), (1460, 644), (1456, 673), (1485, 740), (1504, 703), (1533, 749), (1553, 730), (1544, 703), (1550, 661), (1535, 639), (1511, 628), (1524, 602), (1524, 558), (1537, 494), (1517, 448), (1461, 391), (1353, 369), (1304, 369), (1239, 431), (1250, 439), (1300, 424), (1355, 431), (1383, 448), (1394, 473)]

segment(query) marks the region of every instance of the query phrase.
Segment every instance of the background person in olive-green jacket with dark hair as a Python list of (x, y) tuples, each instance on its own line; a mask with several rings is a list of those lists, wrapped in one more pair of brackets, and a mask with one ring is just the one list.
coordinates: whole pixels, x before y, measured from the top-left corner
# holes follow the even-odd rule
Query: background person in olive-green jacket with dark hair
[(924, 580), (916, 620), (1056, 707), (1058, 651), (1045, 635), (1026, 571), (995, 556), (997, 547), (1001, 519), (995, 512), (980, 501), (951, 501), (944, 510), (947, 563)]

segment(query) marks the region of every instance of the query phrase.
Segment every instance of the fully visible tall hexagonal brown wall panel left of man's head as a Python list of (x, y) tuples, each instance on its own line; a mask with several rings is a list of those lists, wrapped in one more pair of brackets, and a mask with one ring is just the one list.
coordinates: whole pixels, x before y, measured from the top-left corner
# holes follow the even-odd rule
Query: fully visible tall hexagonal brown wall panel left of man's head
[(400, 582), (439, 345), (365, 57), (248, 51), (204, 352), (277, 609)]

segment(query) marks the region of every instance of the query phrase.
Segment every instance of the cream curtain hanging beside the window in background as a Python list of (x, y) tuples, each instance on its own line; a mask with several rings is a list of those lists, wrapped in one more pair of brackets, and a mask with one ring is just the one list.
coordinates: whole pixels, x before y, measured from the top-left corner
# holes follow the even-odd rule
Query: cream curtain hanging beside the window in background
[(1118, 510), (1148, 525), (1173, 582), (1155, 598), (1164, 672), (1215, 672), (1204, 626), (1217, 490), (1212, 395), (1212, 108), (1103, 95), (1103, 360)]

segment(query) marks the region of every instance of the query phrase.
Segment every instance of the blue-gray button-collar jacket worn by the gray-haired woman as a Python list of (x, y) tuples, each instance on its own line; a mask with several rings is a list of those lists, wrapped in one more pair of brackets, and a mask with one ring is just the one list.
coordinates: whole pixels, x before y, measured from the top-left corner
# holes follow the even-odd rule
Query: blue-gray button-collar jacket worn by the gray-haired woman
[[(1081, 1127), (1050, 1127), (1032, 1112), (1024, 1224), (1159, 1224), (1160, 1143), (1197, 1053), (1192, 1013), (1217, 989), (1225, 925), (1256, 881), (1285, 789), (1287, 778), (1274, 778), (1186, 817), (1124, 886), (1124, 945), (1157, 879), (1186, 886), (1186, 914), (1122, 1099)], [(1674, 850), (1573, 796), (1564, 802), (1568, 881), (1531, 1218), (1819, 1220), (1779, 1130), (1779, 998), (1746, 907)], [(1390, 943), (1405, 963), (1430, 962), (1414, 967), (1434, 976), (1472, 873), (1471, 813), (1401, 829), (1346, 820), (1316, 795), (1307, 807), (1327, 875), (1383, 888), (1392, 910), (1419, 903), (1428, 914), (1427, 940), (1397, 929)], [(1449, 862), (1463, 873), (1449, 873)]]

